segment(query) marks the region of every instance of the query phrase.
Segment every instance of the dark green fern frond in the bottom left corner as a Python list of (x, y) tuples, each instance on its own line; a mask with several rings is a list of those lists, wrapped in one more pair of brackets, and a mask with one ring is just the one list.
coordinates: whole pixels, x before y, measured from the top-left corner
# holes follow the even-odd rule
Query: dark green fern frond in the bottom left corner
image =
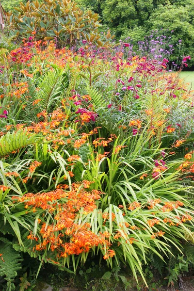
[(20, 255), (13, 249), (11, 243), (0, 244), (0, 276), (7, 281), (7, 291), (15, 289), (13, 284), (17, 271), (21, 269)]

